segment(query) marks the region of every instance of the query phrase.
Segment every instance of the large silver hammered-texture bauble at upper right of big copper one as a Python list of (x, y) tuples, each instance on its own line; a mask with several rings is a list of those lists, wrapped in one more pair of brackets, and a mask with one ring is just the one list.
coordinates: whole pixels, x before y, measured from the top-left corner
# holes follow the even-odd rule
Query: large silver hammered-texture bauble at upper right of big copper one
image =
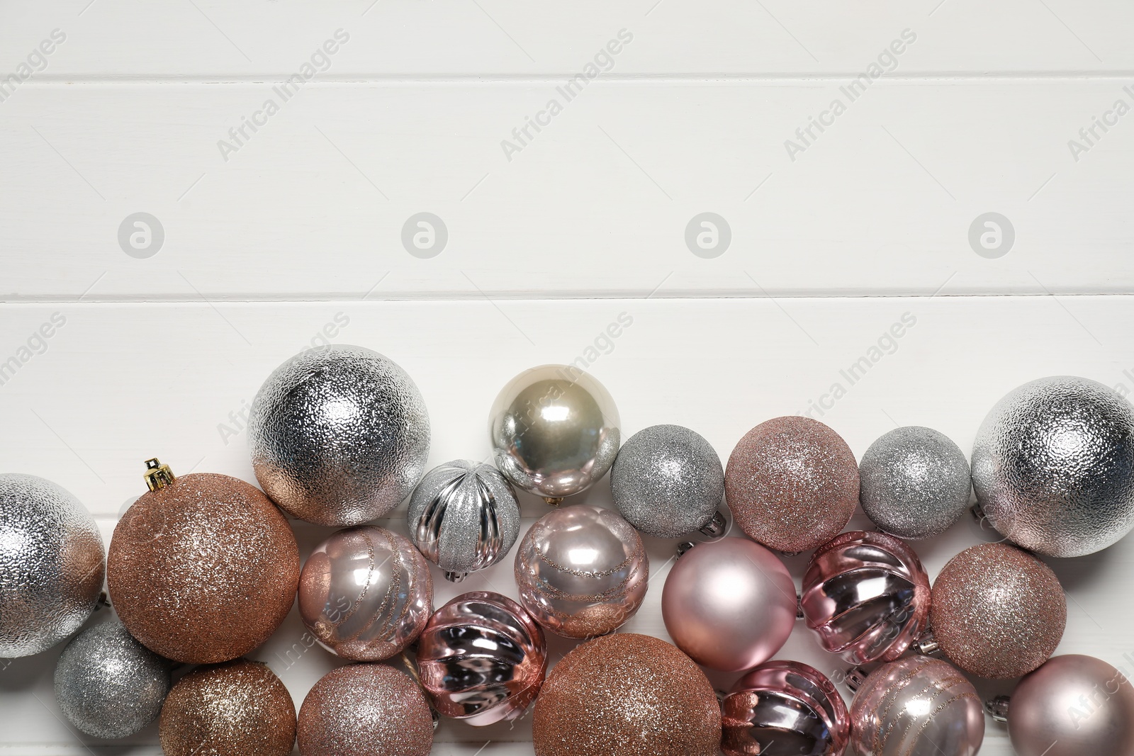
[(413, 379), (371, 349), (305, 351), (268, 376), (248, 416), (252, 466), (287, 512), (347, 526), (409, 495), (429, 457), (429, 414)]

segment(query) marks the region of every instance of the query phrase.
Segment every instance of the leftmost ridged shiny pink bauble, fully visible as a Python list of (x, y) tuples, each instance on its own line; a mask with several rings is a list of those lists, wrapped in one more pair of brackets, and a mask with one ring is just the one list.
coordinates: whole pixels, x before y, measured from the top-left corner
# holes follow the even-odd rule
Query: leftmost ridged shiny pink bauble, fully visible
[(443, 716), (484, 725), (515, 720), (543, 685), (543, 631), (524, 608), (498, 593), (457, 596), (417, 640), (422, 687)]

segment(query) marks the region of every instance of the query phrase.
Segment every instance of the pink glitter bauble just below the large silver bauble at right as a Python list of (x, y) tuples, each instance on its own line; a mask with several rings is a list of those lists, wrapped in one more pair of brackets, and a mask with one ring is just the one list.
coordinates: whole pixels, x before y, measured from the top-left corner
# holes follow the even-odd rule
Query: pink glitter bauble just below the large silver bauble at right
[(1005, 543), (966, 549), (933, 581), (930, 625), (949, 660), (972, 674), (1009, 679), (1055, 653), (1067, 598), (1051, 568)]

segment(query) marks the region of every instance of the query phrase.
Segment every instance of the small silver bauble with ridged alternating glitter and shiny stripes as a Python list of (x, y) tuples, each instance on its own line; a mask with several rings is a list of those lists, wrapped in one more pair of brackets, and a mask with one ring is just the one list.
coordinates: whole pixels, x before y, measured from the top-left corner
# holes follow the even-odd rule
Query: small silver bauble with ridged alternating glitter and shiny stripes
[(491, 465), (455, 459), (414, 489), (407, 513), (414, 545), (450, 580), (503, 559), (519, 535), (511, 484)]

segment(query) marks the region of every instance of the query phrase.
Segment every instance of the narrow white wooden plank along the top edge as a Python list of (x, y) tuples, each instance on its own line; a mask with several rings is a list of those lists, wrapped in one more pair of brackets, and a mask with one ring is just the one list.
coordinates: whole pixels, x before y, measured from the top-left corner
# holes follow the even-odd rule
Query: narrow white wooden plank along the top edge
[[(883, 0), (864, 9), (768, 0), (559, 2), (517, 0), (318, 0), (287, 3), (67, 0), (10, 8), (0, 29), (10, 70), (33, 57), (35, 76), (286, 76), (316, 57), (321, 76), (565, 75), (581, 70), (621, 29), (633, 42), (616, 76), (858, 73), (878, 61), (899, 75), (1122, 73), (1134, 70), (1128, 3), (1089, 0)], [(53, 29), (66, 41), (34, 51)], [(349, 35), (323, 61), (337, 29)], [(895, 62), (886, 51), (908, 29)], [(897, 45), (902, 49), (902, 45)]]

